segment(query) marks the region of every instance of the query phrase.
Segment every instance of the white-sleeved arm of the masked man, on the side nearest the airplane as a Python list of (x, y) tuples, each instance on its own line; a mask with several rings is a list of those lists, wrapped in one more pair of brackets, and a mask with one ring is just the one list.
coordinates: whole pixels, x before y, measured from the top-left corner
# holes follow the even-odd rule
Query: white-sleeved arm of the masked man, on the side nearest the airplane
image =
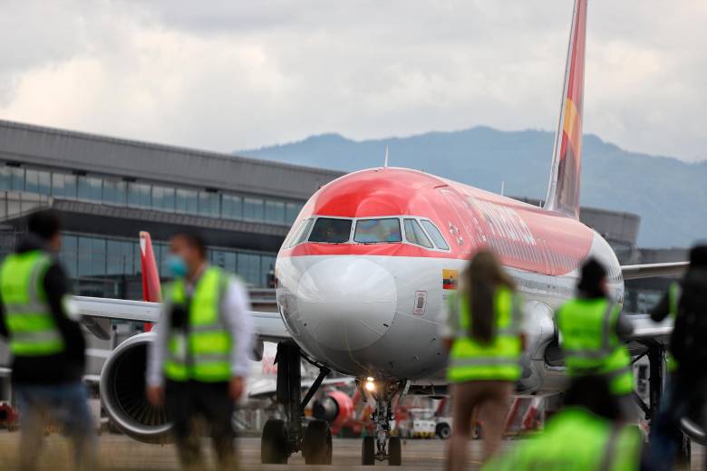
[(248, 362), (253, 348), (253, 322), (248, 312), (250, 299), (237, 280), (228, 284), (223, 301), (223, 321), (231, 333), (235, 348), (231, 350), (231, 376), (245, 380), (250, 370)]

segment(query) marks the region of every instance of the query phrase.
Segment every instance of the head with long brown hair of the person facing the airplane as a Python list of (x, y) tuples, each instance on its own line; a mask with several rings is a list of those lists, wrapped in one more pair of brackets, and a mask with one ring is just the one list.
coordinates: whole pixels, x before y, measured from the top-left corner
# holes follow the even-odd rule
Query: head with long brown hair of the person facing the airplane
[(479, 250), (473, 255), (461, 276), (462, 295), (468, 296), (473, 319), (470, 335), (477, 341), (492, 341), (496, 327), (493, 305), (496, 288), (506, 286), (513, 290), (513, 280), (503, 269), (498, 257), (488, 249)]

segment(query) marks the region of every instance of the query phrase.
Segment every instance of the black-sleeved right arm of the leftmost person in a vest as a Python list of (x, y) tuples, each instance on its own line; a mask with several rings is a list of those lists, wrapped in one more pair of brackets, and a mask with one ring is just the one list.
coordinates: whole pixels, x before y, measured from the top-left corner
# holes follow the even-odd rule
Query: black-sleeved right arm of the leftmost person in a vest
[(52, 264), (44, 274), (44, 294), (56, 328), (63, 337), (66, 355), (82, 367), (86, 363), (86, 339), (73, 310), (66, 274), (59, 263)]

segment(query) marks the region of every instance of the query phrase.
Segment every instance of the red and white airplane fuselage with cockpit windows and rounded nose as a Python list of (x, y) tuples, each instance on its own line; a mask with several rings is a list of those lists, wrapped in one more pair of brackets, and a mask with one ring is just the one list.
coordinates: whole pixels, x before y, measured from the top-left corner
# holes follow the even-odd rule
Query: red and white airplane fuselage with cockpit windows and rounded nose
[(481, 247), (500, 256), (526, 303), (526, 389), (552, 388), (543, 357), (555, 338), (552, 313), (573, 295), (576, 267), (590, 256), (605, 264), (621, 302), (614, 251), (574, 218), (444, 178), (376, 168), (321, 188), (278, 254), (279, 311), (300, 347), (334, 370), (440, 377), (443, 303)]

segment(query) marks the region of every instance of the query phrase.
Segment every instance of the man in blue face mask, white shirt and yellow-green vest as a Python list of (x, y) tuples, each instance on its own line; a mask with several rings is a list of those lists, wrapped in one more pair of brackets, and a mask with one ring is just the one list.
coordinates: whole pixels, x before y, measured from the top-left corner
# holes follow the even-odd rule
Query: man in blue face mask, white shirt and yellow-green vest
[(164, 403), (185, 469), (203, 466), (194, 419), (205, 418), (221, 469), (235, 463), (232, 416), (244, 389), (252, 327), (246, 289), (236, 277), (209, 265), (199, 235), (174, 235), (157, 340), (150, 347), (147, 394)]

